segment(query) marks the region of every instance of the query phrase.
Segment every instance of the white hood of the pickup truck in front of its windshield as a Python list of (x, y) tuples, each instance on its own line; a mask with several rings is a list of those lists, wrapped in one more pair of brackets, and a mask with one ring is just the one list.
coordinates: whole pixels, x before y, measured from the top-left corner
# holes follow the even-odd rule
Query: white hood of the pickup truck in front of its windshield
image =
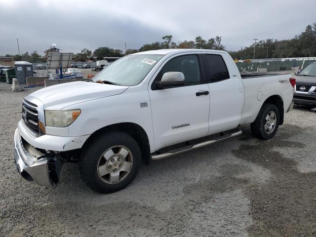
[(30, 96), (39, 99), (44, 109), (61, 110), (67, 106), (102, 97), (118, 95), (128, 86), (76, 81), (52, 85), (33, 92)]

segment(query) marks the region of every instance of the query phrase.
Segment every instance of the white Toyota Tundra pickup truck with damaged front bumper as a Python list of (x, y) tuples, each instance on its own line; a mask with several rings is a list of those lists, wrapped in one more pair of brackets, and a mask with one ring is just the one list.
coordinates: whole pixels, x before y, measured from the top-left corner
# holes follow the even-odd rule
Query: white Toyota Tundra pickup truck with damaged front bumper
[(290, 74), (240, 75), (224, 51), (131, 54), (89, 82), (26, 96), (14, 135), (16, 166), (26, 180), (50, 186), (64, 162), (79, 162), (87, 186), (115, 192), (141, 162), (237, 136), (240, 124), (272, 138), (293, 107), (294, 87)]

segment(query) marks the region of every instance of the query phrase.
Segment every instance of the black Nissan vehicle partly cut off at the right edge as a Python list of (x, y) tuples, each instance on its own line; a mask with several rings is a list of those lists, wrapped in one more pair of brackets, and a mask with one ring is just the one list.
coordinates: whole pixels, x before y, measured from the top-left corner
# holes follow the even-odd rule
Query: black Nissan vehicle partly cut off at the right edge
[(316, 62), (307, 65), (301, 71), (296, 72), (296, 86), (294, 104), (307, 106), (311, 109), (316, 107)]

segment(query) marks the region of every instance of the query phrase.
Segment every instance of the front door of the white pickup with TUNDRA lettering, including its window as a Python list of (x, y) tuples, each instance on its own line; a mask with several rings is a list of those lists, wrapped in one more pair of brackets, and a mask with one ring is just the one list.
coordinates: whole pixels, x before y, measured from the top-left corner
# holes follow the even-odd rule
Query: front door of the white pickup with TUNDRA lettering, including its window
[[(201, 67), (200, 56), (185, 54), (169, 59), (150, 85), (156, 150), (208, 133), (210, 96), (208, 84), (202, 84), (205, 67)], [(182, 72), (185, 85), (159, 89), (156, 82), (166, 72)]]

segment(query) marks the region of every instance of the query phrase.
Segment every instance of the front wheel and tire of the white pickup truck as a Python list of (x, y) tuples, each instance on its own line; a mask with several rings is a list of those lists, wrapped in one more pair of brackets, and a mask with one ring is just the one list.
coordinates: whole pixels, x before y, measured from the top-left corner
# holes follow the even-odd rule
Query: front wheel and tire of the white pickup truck
[(141, 164), (137, 142), (123, 132), (105, 132), (84, 147), (79, 159), (81, 179), (98, 193), (125, 188), (136, 177)]

